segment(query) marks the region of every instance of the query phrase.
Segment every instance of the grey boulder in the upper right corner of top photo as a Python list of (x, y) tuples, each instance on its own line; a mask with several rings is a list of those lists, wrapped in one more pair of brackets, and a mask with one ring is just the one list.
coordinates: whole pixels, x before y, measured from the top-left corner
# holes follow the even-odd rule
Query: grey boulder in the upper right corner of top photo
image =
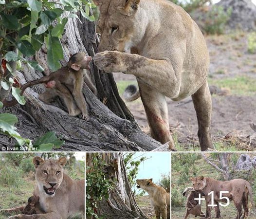
[(252, 0), (221, 0), (216, 5), (222, 6), (225, 11), (232, 8), (231, 18), (227, 23), (231, 29), (256, 30), (256, 5)]

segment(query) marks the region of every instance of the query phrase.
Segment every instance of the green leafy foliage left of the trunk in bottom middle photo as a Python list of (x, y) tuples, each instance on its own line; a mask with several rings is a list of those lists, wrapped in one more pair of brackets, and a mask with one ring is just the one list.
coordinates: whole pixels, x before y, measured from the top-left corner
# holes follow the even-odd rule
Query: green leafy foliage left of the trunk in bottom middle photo
[(109, 190), (113, 189), (115, 185), (111, 179), (106, 179), (103, 169), (105, 163), (101, 159), (99, 153), (93, 153), (92, 166), (87, 166), (86, 170), (86, 217), (93, 216), (96, 219), (97, 203), (103, 199), (109, 199)]

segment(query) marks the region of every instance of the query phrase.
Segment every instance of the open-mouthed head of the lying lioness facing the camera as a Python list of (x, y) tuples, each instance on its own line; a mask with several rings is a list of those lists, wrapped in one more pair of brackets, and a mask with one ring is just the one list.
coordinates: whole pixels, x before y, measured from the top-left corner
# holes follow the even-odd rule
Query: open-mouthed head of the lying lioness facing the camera
[(62, 157), (59, 160), (40, 157), (33, 158), (33, 164), (36, 168), (36, 180), (40, 191), (49, 196), (55, 195), (56, 189), (60, 186), (63, 179), (63, 167), (67, 163), (67, 158)]

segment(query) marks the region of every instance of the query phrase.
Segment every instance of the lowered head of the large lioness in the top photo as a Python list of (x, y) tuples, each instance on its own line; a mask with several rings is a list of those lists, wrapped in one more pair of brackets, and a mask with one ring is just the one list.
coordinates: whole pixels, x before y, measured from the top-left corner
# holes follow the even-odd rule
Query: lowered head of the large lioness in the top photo
[(135, 15), (140, 0), (94, 0), (94, 2), (100, 5), (97, 24), (97, 32), (101, 34), (99, 52), (128, 51), (132, 46), (132, 37), (138, 32)]

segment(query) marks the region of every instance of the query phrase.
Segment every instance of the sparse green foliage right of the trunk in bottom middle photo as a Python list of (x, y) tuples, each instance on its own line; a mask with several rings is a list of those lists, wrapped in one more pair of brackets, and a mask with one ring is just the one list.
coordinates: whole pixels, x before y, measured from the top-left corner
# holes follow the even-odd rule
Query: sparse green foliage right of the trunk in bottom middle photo
[(136, 191), (134, 188), (134, 186), (136, 185), (135, 179), (139, 172), (139, 165), (142, 162), (148, 160), (149, 158), (141, 157), (139, 160), (134, 161), (134, 159), (136, 159), (136, 158), (134, 158), (134, 155), (136, 155), (136, 153), (125, 154), (124, 163), (125, 163), (125, 167), (126, 167), (126, 173), (127, 173), (128, 181), (130, 183), (130, 187), (133, 188), (134, 194), (137, 196), (143, 196), (146, 193), (144, 190), (142, 190), (138, 193), (138, 191)]

